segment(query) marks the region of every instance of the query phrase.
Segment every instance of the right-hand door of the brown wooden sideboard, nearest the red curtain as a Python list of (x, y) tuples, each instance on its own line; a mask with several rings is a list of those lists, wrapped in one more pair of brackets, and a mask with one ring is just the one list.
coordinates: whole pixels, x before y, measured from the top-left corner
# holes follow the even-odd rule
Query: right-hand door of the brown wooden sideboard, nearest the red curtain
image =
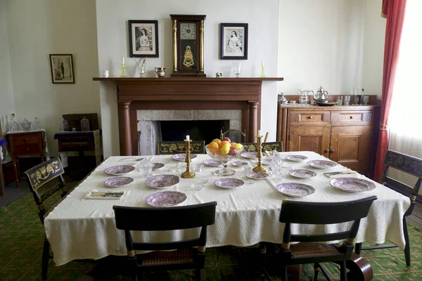
[(333, 126), (330, 159), (366, 174), (371, 157), (371, 126)]

